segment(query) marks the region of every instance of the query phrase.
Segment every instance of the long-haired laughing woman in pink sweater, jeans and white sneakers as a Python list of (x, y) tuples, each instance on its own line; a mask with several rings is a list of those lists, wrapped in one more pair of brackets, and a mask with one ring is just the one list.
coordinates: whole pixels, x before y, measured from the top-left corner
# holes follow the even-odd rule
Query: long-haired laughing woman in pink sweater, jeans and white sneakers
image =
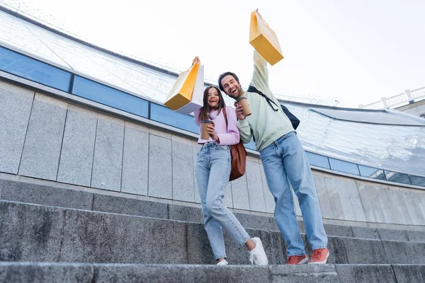
[[(193, 59), (193, 64), (199, 58)], [(227, 114), (227, 127), (223, 111)], [(220, 89), (216, 86), (205, 88), (203, 108), (195, 112), (196, 125), (202, 120), (211, 120), (208, 124), (209, 139), (198, 139), (203, 144), (196, 157), (195, 173), (204, 215), (204, 226), (210, 240), (217, 265), (227, 265), (225, 242), (222, 228), (239, 245), (249, 250), (249, 260), (254, 265), (268, 265), (266, 253), (260, 238), (250, 238), (234, 214), (222, 202), (225, 187), (229, 182), (231, 154), (229, 145), (239, 142), (239, 130), (236, 113), (226, 107)]]

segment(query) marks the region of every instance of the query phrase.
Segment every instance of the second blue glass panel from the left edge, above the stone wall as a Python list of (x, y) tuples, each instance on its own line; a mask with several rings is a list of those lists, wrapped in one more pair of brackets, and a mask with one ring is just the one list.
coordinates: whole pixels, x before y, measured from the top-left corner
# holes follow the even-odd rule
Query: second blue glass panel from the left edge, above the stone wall
[(72, 94), (142, 117), (148, 117), (149, 102), (137, 96), (75, 76)]

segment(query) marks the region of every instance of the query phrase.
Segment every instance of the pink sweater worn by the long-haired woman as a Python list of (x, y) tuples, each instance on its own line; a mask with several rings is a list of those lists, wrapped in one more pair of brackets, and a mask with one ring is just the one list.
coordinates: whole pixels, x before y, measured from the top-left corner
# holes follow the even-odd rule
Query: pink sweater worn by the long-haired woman
[[(218, 111), (212, 111), (210, 112), (210, 120), (214, 122), (215, 124), (215, 134), (217, 134), (218, 141), (217, 144), (220, 146), (231, 146), (232, 144), (237, 144), (239, 142), (239, 129), (237, 128), (236, 124), (236, 112), (234, 112), (234, 109), (231, 106), (227, 106), (226, 108), (226, 114), (227, 114), (227, 129), (226, 129), (226, 121), (225, 116), (223, 115), (222, 109), (220, 111), (220, 114), (218, 114)], [(199, 132), (200, 132), (200, 110), (197, 110), (195, 113), (195, 122), (196, 125), (199, 126)], [(199, 137), (198, 144), (205, 144), (205, 142), (208, 141), (214, 141), (213, 139), (201, 139)]]

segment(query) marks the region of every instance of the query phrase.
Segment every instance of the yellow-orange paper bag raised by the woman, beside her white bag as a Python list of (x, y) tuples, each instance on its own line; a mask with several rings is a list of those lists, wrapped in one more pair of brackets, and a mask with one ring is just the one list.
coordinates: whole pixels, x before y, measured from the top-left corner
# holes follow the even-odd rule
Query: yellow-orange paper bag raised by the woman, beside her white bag
[(164, 105), (172, 110), (178, 110), (191, 102), (200, 64), (193, 64), (187, 71), (181, 72), (176, 83), (167, 96)]

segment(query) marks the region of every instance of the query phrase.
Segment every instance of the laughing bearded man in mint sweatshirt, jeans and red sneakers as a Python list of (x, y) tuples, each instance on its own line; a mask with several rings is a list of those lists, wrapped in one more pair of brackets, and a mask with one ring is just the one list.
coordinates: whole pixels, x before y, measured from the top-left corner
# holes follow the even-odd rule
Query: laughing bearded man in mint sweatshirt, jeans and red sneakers
[[(246, 97), (252, 114), (244, 117), (242, 107), (236, 108), (237, 126), (243, 143), (254, 136), (256, 149), (260, 152), (268, 189), (271, 191), (276, 208), (274, 217), (283, 239), (288, 244), (288, 264), (326, 263), (329, 257), (327, 235), (324, 232), (322, 212), (317, 199), (316, 188), (310, 163), (297, 138), (293, 125), (283, 113), (280, 103), (268, 88), (268, 69), (266, 60), (254, 50), (254, 74), (251, 86), (259, 93), (242, 90), (236, 74), (226, 72), (218, 79), (220, 90), (227, 96), (237, 99)], [(305, 224), (312, 257), (305, 255), (304, 243), (300, 236), (297, 216), (293, 206), (293, 186)]]

